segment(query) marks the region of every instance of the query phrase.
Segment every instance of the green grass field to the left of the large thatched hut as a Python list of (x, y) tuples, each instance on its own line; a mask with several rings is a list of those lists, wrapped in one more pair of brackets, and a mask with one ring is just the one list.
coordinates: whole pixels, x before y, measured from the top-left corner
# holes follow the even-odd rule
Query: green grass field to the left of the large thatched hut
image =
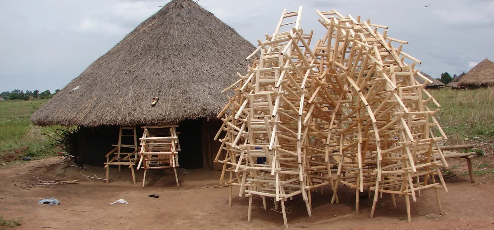
[(52, 141), (41, 133), (51, 128), (35, 126), (31, 114), (48, 99), (0, 101), (0, 163), (20, 160), (25, 156), (41, 158), (51, 155)]

